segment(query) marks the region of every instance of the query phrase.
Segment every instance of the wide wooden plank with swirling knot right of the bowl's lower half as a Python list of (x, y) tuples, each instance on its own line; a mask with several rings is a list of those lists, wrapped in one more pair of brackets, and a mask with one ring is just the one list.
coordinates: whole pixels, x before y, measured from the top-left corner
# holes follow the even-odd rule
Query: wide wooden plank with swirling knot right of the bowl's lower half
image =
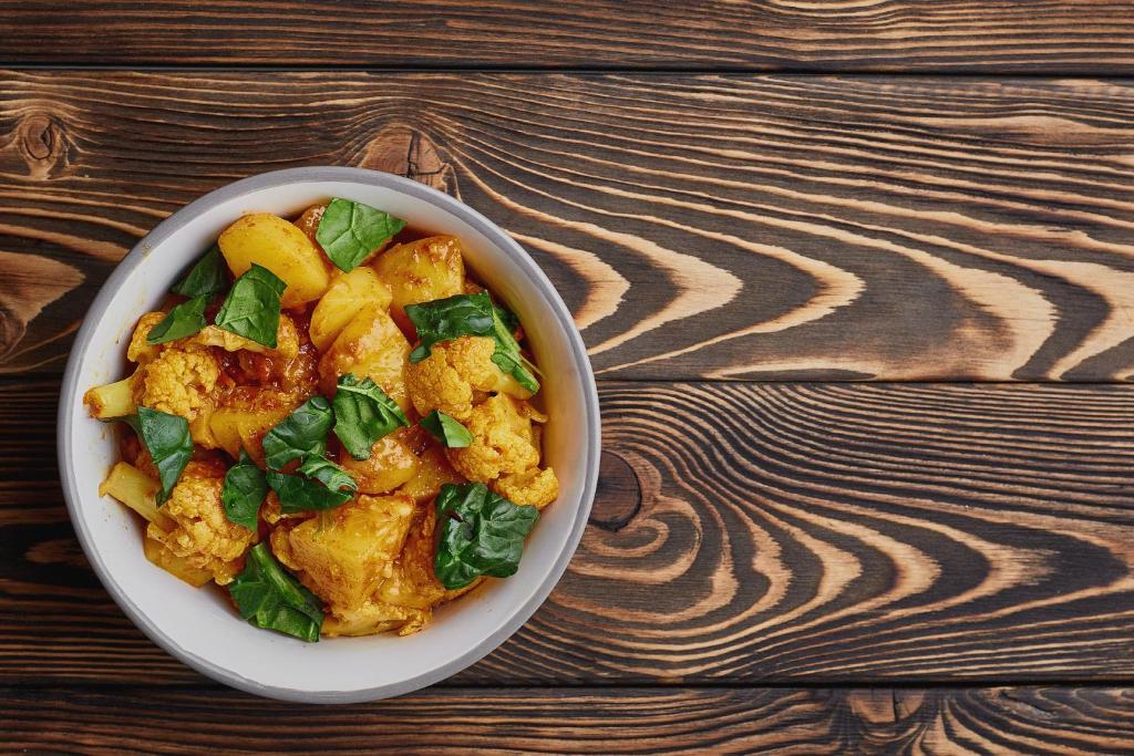
[[(57, 391), (0, 389), (0, 679), (200, 679), (83, 560), (54, 483)], [(1134, 679), (1128, 390), (601, 394), (583, 544), (533, 620), (458, 682)]]

